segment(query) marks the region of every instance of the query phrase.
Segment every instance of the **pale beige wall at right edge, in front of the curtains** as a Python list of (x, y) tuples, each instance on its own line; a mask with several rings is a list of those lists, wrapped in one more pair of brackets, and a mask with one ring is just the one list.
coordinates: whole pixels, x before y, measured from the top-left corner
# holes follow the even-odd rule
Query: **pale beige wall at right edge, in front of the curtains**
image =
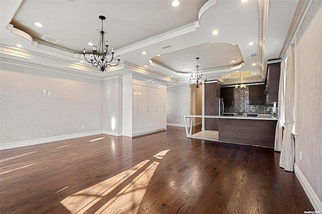
[[(295, 164), (322, 200), (322, 2), (314, 1), (296, 41)], [(299, 152), (302, 160), (299, 160)]]

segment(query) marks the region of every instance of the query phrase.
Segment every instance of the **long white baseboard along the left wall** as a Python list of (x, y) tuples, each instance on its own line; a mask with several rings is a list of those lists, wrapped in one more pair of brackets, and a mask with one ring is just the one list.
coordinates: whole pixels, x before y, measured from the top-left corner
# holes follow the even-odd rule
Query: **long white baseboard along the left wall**
[(72, 139), (72, 138), (81, 138), (81, 137), (87, 137), (87, 136), (99, 135), (99, 134), (103, 134), (103, 131), (84, 132), (84, 133), (62, 135), (62, 136), (56, 136), (56, 137), (50, 137), (50, 138), (41, 138), (41, 139), (36, 139), (36, 140), (19, 141), (19, 142), (13, 142), (13, 143), (7, 143), (7, 144), (0, 145), (0, 150), (13, 149), (13, 148), (18, 148), (18, 147), (31, 146), (31, 145), (43, 144), (43, 143), (50, 143), (50, 142), (55, 142), (55, 141), (68, 140), (68, 139)]

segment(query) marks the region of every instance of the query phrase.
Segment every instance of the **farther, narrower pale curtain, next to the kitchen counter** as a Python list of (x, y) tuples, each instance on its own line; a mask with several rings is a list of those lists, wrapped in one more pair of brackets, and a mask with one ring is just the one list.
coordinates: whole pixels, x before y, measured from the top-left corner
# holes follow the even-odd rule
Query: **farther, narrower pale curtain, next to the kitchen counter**
[(283, 136), (283, 125), (285, 123), (284, 116), (284, 75), (285, 75), (285, 63), (281, 62), (281, 74), (280, 74), (280, 84), (278, 88), (278, 121), (275, 131), (275, 144), (274, 150), (280, 152), (282, 150), (282, 136)]

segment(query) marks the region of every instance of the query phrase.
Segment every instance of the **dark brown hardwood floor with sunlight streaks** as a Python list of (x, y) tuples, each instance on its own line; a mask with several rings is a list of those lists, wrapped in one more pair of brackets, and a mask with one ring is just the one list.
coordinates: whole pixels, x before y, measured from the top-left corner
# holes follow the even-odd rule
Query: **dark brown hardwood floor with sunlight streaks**
[[(102, 138), (102, 139), (100, 139)], [(1, 155), (3, 213), (303, 213), (314, 210), (269, 148), (96, 135)]]

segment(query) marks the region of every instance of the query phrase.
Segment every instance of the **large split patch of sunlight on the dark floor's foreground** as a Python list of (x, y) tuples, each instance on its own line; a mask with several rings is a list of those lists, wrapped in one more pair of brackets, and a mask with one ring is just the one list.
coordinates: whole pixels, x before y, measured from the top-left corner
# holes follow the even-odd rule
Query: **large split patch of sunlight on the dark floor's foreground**
[[(168, 153), (168, 150), (161, 151), (153, 157), (162, 159)], [(87, 189), (67, 196), (60, 201), (71, 213), (84, 213), (94, 206), (98, 201), (111, 193), (116, 187), (128, 182), (127, 185), (118, 193), (110, 196), (107, 203), (101, 206), (95, 213), (136, 213), (143, 199), (146, 187), (150, 182), (159, 162), (153, 162), (148, 165), (144, 171), (138, 174), (134, 179), (127, 179), (138, 170), (143, 169), (150, 160), (144, 160), (132, 168), (121, 172), (101, 183), (95, 184)]]

